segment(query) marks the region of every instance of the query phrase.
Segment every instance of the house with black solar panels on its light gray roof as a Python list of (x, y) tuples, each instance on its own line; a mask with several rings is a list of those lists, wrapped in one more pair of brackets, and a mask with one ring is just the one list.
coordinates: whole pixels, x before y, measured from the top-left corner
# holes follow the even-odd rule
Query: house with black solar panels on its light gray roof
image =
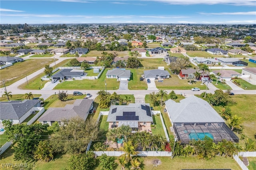
[(107, 122), (109, 123), (109, 128), (129, 125), (132, 131), (151, 130), (152, 114), (148, 103), (111, 105)]

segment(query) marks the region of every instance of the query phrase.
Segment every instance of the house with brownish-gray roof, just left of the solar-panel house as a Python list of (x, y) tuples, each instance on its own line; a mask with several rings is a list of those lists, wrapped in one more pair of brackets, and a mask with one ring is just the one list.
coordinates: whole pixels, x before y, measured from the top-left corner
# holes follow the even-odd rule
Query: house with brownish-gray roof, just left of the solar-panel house
[(48, 123), (48, 125), (52, 126), (54, 122), (58, 122), (59, 125), (61, 125), (63, 119), (70, 119), (73, 117), (80, 117), (86, 120), (93, 110), (92, 99), (76, 99), (72, 105), (66, 105), (65, 107), (50, 107), (38, 121), (42, 124)]

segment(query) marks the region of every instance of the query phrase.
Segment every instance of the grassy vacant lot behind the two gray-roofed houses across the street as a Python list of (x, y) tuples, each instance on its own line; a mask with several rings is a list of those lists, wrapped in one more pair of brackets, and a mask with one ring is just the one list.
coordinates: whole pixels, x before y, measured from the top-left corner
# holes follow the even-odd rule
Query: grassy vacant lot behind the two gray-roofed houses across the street
[(158, 69), (158, 66), (169, 68), (162, 58), (144, 58), (142, 61), (140, 61), (140, 63), (140, 67), (148, 69)]

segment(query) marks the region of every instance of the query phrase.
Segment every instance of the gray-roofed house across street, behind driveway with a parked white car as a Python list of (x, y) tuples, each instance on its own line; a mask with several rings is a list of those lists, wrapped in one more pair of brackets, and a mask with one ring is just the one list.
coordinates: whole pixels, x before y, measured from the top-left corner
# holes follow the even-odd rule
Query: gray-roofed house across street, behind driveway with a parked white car
[(168, 79), (171, 77), (170, 73), (166, 70), (154, 69), (144, 71), (145, 79)]

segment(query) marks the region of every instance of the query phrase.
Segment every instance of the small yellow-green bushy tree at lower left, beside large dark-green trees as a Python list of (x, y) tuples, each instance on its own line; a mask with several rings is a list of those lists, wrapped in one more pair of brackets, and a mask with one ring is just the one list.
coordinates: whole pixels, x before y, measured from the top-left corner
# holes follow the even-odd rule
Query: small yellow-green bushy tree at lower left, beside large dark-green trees
[(37, 149), (35, 151), (35, 159), (42, 160), (44, 162), (49, 162), (53, 159), (53, 150), (48, 140), (39, 142)]

